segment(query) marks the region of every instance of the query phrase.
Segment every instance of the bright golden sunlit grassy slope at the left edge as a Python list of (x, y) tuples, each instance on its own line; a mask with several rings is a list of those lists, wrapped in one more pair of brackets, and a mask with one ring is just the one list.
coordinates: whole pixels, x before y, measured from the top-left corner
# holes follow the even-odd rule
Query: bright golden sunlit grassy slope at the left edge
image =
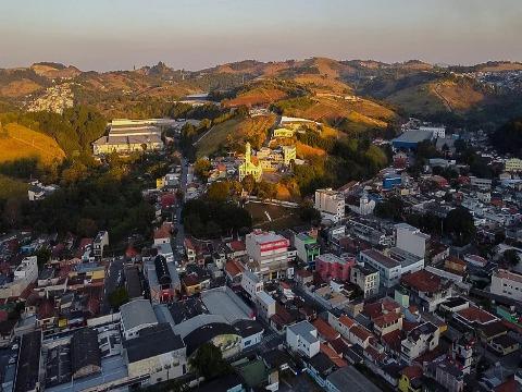
[(0, 162), (37, 157), (44, 164), (61, 161), (65, 152), (50, 136), (10, 123), (0, 134)]

